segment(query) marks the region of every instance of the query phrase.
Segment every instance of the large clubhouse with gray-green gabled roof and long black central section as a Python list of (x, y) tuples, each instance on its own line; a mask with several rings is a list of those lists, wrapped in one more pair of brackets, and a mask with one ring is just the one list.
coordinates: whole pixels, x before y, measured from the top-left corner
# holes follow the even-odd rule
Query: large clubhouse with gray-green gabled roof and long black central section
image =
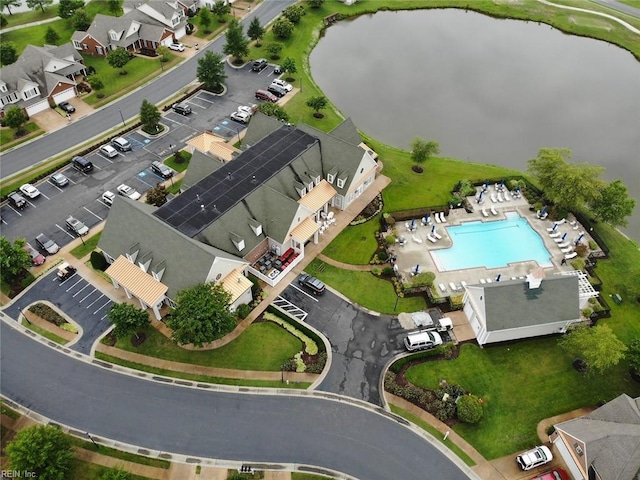
[[(245, 138), (251, 142), (226, 163), (195, 150), (185, 176), (189, 187), (162, 207), (123, 199), (114, 203), (98, 245), (112, 264), (107, 274), (114, 285), (126, 283), (132, 295), (144, 294), (134, 291), (139, 279), (127, 280), (114, 268), (126, 261), (142, 271), (137, 277), (158, 277), (166, 287), (153, 290), (155, 297), (141, 305), (172, 305), (180, 289), (211, 280), (238, 292), (237, 284), (246, 282), (250, 294), (247, 272), (275, 285), (304, 258), (305, 244), (318, 242), (330, 228), (346, 200), (373, 183), (365, 173), (375, 175), (375, 162), (358, 146), (359, 136), (349, 143), (256, 114)], [(340, 178), (344, 183), (338, 187)], [(201, 257), (183, 264), (192, 256), (187, 246), (200, 249)], [(135, 258), (132, 252), (138, 252)], [(236, 306), (246, 298), (239, 294)]]

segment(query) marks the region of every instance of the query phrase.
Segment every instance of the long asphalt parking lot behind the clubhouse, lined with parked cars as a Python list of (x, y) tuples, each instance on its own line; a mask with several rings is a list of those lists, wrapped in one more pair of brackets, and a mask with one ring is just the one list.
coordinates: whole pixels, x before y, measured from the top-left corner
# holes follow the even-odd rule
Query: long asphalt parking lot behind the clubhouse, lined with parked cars
[(24, 209), (3, 203), (0, 234), (11, 240), (26, 238), (37, 248), (35, 237), (45, 233), (62, 247), (75, 238), (65, 226), (67, 217), (76, 217), (90, 229), (102, 222), (109, 214), (109, 207), (101, 200), (106, 190), (116, 192), (116, 187), (124, 183), (144, 194), (164, 180), (151, 171), (151, 162), (165, 160), (172, 151), (183, 148), (190, 138), (210, 130), (233, 142), (233, 137), (246, 126), (231, 120), (229, 115), (240, 105), (257, 103), (254, 92), (267, 88), (275, 77), (273, 66), (259, 73), (252, 72), (250, 64), (241, 69), (227, 66), (226, 72), (227, 91), (223, 95), (200, 90), (184, 101), (191, 106), (191, 115), (171, 110), (164, 115), (161, 122), (168, 127), (166, 134), (154, 139), (138, 131), (124, 134), (132, 145), (131, 151), (107, 158), (96, 150), (85, 155), (94, 165), (93, 172), (85, 174), (66, 166), (61, 170), (69, 179), (66, 187), (59, 188), (47, 178), (35, 184), (41, 195), (27, 199)]

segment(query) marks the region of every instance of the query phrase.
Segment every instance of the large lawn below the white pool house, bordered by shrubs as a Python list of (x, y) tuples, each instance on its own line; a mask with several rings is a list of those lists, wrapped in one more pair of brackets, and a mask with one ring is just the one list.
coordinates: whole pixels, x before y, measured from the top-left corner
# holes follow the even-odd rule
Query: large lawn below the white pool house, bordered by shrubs
[(459, 358), (411, 367), (407, 378), (427, 388), (445, 379), (484, 399), (484, 417), (477, 425), (460, 423), (453, 428), (492, 460), (537, 444), (536, 425), (544, 418), (621, 393), (640, 395), (640, 384), (627, 374), (628, 364), (623, 362), (607, 375), (585, 377), (573, 369), (571, 360), (557, 346), (557, 338), (484, 349), (465, 344)]

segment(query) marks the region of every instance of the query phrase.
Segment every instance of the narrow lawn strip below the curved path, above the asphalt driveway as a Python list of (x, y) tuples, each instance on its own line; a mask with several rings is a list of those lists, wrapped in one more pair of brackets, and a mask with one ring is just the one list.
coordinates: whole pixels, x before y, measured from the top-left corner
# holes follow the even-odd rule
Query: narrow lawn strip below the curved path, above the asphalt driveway
[[(321, 270), (318, 270), (319, 267)], [(375, 312), (415, 312), (425, 308), (422, 297), (398, 299), (391, 282), (377, 278), (369, 272), (341, 270), (318, 259), (313, 260), (306, 271), (347, 296), (352, 302)], [(394, 310), (396, 300), (397, 308)]]

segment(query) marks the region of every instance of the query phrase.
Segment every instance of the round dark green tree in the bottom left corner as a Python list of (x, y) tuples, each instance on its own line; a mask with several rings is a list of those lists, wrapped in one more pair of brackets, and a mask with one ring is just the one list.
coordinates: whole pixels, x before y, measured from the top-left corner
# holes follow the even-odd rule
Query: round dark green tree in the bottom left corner
[(33, 472), (37, 478), (64, 480), (73, 459), (71, 441), (58, 428), (34, 425), (17, 433), (6, 446), (12, 470)]

